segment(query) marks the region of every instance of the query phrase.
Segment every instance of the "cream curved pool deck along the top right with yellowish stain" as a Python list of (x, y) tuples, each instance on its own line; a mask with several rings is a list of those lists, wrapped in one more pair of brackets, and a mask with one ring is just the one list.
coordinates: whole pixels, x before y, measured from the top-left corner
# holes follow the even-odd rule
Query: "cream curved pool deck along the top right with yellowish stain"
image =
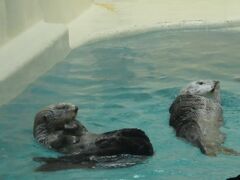
[[(70, 46), (153, 28), (208, 26), (240, 20), (239, 0), (95, 0), (69, 26)], [(81, 32), (81, 33), (80, 33)]]

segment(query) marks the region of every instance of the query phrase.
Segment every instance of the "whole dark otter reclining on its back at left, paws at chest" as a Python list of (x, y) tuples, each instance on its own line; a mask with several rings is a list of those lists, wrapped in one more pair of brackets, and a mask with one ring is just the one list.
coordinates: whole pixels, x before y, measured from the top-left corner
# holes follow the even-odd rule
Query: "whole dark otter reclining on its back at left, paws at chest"
[(119, 157), (127, 159), (125, 155), (153, 155), (152, 144), (142, 130), (132, 128), (91, 133), (76, 120), (77, 111), (75, 105), (60, 103), (37, 113), (34, 138), (47, 148), (67, 154), (59, 158), (34, 158), (46, 163), (37, 170), (95, 167), (99, 161), (113, 162)]

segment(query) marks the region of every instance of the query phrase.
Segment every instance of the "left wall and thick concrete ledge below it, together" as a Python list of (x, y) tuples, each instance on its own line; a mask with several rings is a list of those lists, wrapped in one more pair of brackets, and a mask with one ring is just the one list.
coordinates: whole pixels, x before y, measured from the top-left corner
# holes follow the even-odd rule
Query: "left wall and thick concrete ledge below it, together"
[(71, 50), (67, 23), (92, 0), (0, 0), (0, 105)]

